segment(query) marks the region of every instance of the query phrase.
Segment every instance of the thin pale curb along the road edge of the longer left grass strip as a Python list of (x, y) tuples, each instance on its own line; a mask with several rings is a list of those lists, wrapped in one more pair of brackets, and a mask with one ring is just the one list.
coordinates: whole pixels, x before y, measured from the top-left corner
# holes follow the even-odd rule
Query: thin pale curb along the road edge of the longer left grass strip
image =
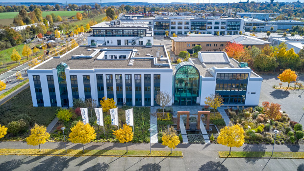
[(171, 157), (171, 158), (182, 158), (184, 157), (184, 154), (182, 156), (157, 156), (157, 155), (89, 155), (89, 154), (14, 154), (14, 153), (6, 153), (6, 154), (0, 154), (0, 155), (44, 155), (44, 156), (93, 156), (93, 157)]

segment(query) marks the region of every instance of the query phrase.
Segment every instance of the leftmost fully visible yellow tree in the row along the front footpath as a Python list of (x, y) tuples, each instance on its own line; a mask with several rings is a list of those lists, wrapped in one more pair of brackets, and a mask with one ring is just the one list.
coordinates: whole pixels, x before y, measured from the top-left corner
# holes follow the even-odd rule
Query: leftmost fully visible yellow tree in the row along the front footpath
[(46, 143), (49, 138), (50, 134), (47, 132), (47, 128), (45, 126), (35, 124), (34, 128), (30, 129), (30, 135), (26, 138), (26, 143), (32, 146), (39, 145), (40, 152), (40, 144)]

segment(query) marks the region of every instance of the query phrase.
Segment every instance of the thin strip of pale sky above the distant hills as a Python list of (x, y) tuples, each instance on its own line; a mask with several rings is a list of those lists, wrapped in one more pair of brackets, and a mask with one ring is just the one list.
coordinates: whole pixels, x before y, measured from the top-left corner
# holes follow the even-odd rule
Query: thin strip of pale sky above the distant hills
[[(66, 0), (67, 3), (75, 3), (74, 0)], [(159, 2), (159, 0), (102, 0), (101, 3), (115, 3), (115, 2), (143, 2), (143, 3), (238, 3), (240, 0), (192, 0), (189, 2), (189, 0), (167, 0), (166, 2)], [(246, 1), (246, 0), (241, 0)], [(254, 2), (270, 2), (270, 0), (249, 0)], [(274, 2), (296, 2), (297, 0), (274, 0)], [(304, 2), (304, 0), (299, 0), (301, 3)], [(20, 2), (38, 2), (37, 0), (7, 0), (1, 3), (20, 3)], [(41, 3), (41, 2), (39, 2)], [(45, 0), (44, 3), (63, 3), (62, 0)], [(82, 0), (81, 3), (100, 3), (100, 0)], [(79, 3), (78, 3), (79, 4)]]

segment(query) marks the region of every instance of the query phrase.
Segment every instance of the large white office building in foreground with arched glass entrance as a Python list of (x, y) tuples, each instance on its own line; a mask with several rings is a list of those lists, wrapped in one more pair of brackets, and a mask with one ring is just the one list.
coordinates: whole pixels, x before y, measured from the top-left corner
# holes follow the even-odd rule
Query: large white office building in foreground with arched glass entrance
[[(28, 70), (34, 107), (72, 107), (73, 99), (113, 98), (117, 105), (157, 106), (157, 91), (172, 104), (204, 105), (218, 93), (224, 105), (258, 105), (262, 78), (225, 52), (171, 65), (165, 46), (77, 46)], [(169, 105), (170, 106), (170, 105)]]

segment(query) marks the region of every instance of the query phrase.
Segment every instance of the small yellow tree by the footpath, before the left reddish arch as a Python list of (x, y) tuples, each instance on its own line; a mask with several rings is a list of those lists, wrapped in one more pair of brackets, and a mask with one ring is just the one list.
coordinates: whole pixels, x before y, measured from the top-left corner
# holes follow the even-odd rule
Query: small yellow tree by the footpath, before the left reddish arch
[(161, 140), (163, 141), (162, 145), (170, 148), (170, 154), (172, 154), (172, 148), (175, 149), (176, 146), (179, 144), (177, 131), (172, 126), (171, 128), (165, 130)]

